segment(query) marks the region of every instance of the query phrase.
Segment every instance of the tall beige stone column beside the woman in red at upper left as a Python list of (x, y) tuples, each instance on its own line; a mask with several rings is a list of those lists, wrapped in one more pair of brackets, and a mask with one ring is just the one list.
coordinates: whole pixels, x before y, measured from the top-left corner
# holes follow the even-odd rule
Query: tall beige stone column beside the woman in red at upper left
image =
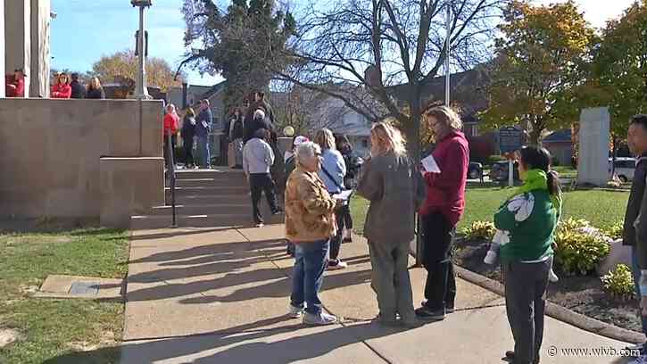
[(49, 96), (50, 0), (31, 0), (31, 73), (29, 97)]

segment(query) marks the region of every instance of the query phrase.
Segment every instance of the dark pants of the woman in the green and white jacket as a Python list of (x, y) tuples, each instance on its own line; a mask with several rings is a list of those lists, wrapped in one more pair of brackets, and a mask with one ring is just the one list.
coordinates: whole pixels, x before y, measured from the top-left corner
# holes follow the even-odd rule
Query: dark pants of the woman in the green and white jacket
[(539, 361), (548, 271), (551, 267), (552, 258), (539, 263), (502, 264), (505, 309), (514, 337), (515, 364)]

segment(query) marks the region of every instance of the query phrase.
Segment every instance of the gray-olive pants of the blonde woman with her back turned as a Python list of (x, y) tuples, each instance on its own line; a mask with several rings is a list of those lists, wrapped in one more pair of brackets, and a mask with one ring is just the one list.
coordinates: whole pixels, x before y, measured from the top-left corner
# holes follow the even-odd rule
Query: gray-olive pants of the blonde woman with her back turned
[(399, 313), (402, 320), (415, 318), (411, 279), (409, 277), (409, 244), (382, 244), (369, 241), (371, 281), (377, 294), (382, 319), (393, 321)]

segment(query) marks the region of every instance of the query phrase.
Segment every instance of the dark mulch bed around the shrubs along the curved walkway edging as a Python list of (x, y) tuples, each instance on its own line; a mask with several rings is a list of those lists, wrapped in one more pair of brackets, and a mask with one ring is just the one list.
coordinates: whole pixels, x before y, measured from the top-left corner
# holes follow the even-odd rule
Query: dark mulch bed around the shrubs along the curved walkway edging
[[(459, 237), (456, 240), (453, 261), (464, 269), (501, 282), (500, 267), (483, 262), (489, 248), (488, 241), (468, 241)], [(555, 269), (555, 273), (560, 277), (560, 281), (548, 286), (550, 302), (610, 325), (642, 332), (637, 300), (623, 302), (612, 298), (604, 292), (600, 277), (597, 276), (566, 277), (560, 274), (559, 269)]]

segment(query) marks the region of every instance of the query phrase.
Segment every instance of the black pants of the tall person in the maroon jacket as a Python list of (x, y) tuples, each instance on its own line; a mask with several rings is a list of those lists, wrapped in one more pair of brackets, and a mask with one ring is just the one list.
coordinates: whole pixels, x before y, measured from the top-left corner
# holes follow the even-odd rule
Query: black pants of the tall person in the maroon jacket
[(427, 269), (425, 298), (429, 310), (454, 307), (456, 277), (452, 263), (455, 229), (440, 212), (422, 217), (423, 264)]

